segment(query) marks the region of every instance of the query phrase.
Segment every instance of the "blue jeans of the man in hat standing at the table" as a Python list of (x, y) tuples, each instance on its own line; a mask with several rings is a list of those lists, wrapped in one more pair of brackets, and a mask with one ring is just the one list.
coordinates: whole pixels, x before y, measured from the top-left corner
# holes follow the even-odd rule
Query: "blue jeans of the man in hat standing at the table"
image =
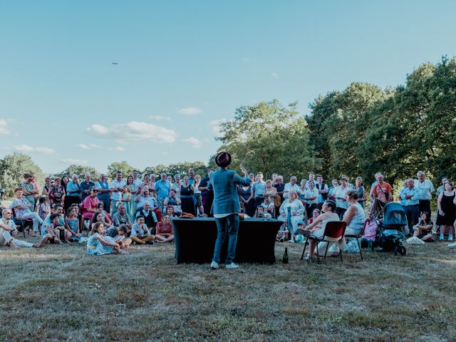
[(236, 253), (239, 216), (238, 214), (230, 214), (227, 217), (216, 218), (215, 222), (217, 223), (217, 240), (215, 241), (214, 258), (212, 258), (212, 261), (217, 262), (217, 264), (220, 263), (220, 254), (222, 253), (222, 247), (228, 232), (228, 250), (225, 264), (231, 264)]

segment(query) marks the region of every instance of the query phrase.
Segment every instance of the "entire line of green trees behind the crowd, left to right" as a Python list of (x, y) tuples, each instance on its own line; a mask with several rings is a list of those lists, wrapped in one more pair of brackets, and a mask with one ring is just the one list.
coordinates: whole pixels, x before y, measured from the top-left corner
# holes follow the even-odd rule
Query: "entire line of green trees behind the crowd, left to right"
[[(442, 176), (456, 175), (455, 57), (423, 63), (395, 88), (353, 82), (344, 90), (318, 95), (308, 115), (300, 115), (296, 106), (275, 99), (241, 105), (233, 120), (222, 123), (218, 150), (231, 152), (234, 169), (239, 171), (242, 162), (266, 178), (273, 172), (299, 178), (315, 172), (326, 180), (344, 174), (371, 181), (381, 171), (393, 185), (418, 170), (435, 184)], [(207, 167), (216, 168), (214, 155), (207, 162), (137, 170), (185, 175), (190, 167), (204, 175)], [(108, 177), (113, 179), (117, 170), (128, 175), (133, 169), (128, 162), (113, 162)], [(27, 155), (14, 153), (0, 160), (0, 184), (7, 196), (29, 171), (43, 183), (43, 172)], [(58, 175), (83, 177), (86, 172), (99, 177), (93, 167), (81, 165), (70, 165)]]

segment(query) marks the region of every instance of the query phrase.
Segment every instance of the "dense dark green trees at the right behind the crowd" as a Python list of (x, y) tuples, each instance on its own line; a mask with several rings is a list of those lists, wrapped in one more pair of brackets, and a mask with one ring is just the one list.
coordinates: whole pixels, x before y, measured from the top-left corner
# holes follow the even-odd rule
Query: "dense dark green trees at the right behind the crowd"
[(311, 141), (323, 170), (390, 183), (414, 177), (456, 176), (456, 58), (425, 63), (394, 90), (352, 83), (311, 104)]

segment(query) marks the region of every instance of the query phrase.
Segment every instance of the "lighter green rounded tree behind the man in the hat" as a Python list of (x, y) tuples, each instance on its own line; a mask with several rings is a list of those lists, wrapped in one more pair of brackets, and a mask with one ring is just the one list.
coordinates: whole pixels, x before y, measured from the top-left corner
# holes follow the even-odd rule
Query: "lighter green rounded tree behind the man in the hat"
[(239, 163), (266, 177), (274, 172), (306, 177), (316, 170), (320, 160), (309, 148), (309, 129), (299, 118), (296, 103), (281, 105), (278, 100), (243, 105), (237, 108), (234, 120), (222, 123), (219, 150), (232, 155), (232, 167)]

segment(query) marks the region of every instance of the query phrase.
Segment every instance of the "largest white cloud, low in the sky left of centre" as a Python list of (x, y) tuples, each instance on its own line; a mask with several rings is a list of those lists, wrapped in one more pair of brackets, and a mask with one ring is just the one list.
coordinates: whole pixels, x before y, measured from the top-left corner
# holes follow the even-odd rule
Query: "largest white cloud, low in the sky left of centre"
[(119, 141), (150, 140), (152, 142), (175, 142), (177, 136), (175, 130), (170, 130), (152, 123), (142, 123), (138, 121), (115, 124), (110, 126), (110, 128), (93, 124), (86, 129), (86, 132), (97, 138)]

